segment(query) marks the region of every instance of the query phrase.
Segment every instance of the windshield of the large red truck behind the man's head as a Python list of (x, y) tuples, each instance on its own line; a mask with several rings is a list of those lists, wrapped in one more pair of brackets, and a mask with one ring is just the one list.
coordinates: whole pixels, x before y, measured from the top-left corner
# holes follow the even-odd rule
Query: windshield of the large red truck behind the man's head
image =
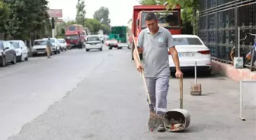
[[(144, 19), (147, 13), (148, 12), (142, 12), (142, 29), (146, 28), (146, 21)], [(163, 26), (168, 29), (180, 27), (180, 18), (178, 11), (155, 11), (154, 13), (158, 17), (158, 24), (160, 24), (160, 26)]]

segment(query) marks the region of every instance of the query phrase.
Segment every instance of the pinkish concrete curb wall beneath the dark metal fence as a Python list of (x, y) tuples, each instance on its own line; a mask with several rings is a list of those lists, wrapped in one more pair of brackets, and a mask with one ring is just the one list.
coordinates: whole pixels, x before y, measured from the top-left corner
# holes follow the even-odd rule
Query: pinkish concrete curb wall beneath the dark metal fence
[(223, 64), (219, 61), (212, 60), (213, 63), (213, 73), (227, 76), (230, 79), (233, 79), (237, 82), (241, 81), (242, 79), (256, 79), (256, 72), (251, 72), (250, 70), (244, 69), (235, 69), (230, 64)]

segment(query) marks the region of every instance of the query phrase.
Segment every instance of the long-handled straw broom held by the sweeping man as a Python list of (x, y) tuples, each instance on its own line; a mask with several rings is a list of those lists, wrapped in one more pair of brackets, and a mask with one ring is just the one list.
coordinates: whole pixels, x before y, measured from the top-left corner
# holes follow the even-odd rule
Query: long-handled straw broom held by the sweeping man
[[(134, 48), (136, 50), (136, 54), (137, 54), (137, 57), (139, 59), (139, 62), (140, 62), (140, 58), (139, 58), (139, 51), (138, 51), (138, 46), (136, 45), (136, 40), (134, 38), (134, 35), (133, 35), (133, 42), (134, 42)], [(149, 130), (152, 132), (153, 130), (157, 129), (158, 126), (160, 125), (160, 123), (162, 123), (163, 121), (163, 117), (162, 116), (159, 116), (158, 114), (155, 114), (155, 110), (154, 110), (154, 107), (153, 107), (153, 104), (151, 102), (151, 99), (150, 99), (150, 96), (149, 96), (149, 89), (148, 87), (146, 86), (146, 79), (145, 79), (145, 76), (144, 76), (144, 72), (142, 70), (142, 79), (143, 79), (143, 82), (144, 82), (144, 86), (145, 86), (145, 89), (146, 89), (146, 96), (148, 98), (148, 102), (149, 102), (149, 122), (148, 122), (148, 126), (149, 126)]]

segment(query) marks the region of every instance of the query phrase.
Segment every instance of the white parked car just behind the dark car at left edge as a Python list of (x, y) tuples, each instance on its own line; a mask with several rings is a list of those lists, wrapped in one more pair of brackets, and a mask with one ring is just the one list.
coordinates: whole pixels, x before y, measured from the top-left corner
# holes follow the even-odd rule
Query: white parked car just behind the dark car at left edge
[(28, 60), (28, 49), (27, 45), (22, 40), (10, 40), (11, 45), (14, 46), (16, 51), (17, 61), (27, 61)]

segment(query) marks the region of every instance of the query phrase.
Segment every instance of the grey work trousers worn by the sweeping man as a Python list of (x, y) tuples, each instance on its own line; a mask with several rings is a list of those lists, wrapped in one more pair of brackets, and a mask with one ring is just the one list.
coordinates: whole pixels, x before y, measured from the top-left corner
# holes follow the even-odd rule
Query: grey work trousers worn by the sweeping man
[(167, 94), (170, 76), (146, 78), (149, 96), (156, 114), (164, 115), (167, 107)]

